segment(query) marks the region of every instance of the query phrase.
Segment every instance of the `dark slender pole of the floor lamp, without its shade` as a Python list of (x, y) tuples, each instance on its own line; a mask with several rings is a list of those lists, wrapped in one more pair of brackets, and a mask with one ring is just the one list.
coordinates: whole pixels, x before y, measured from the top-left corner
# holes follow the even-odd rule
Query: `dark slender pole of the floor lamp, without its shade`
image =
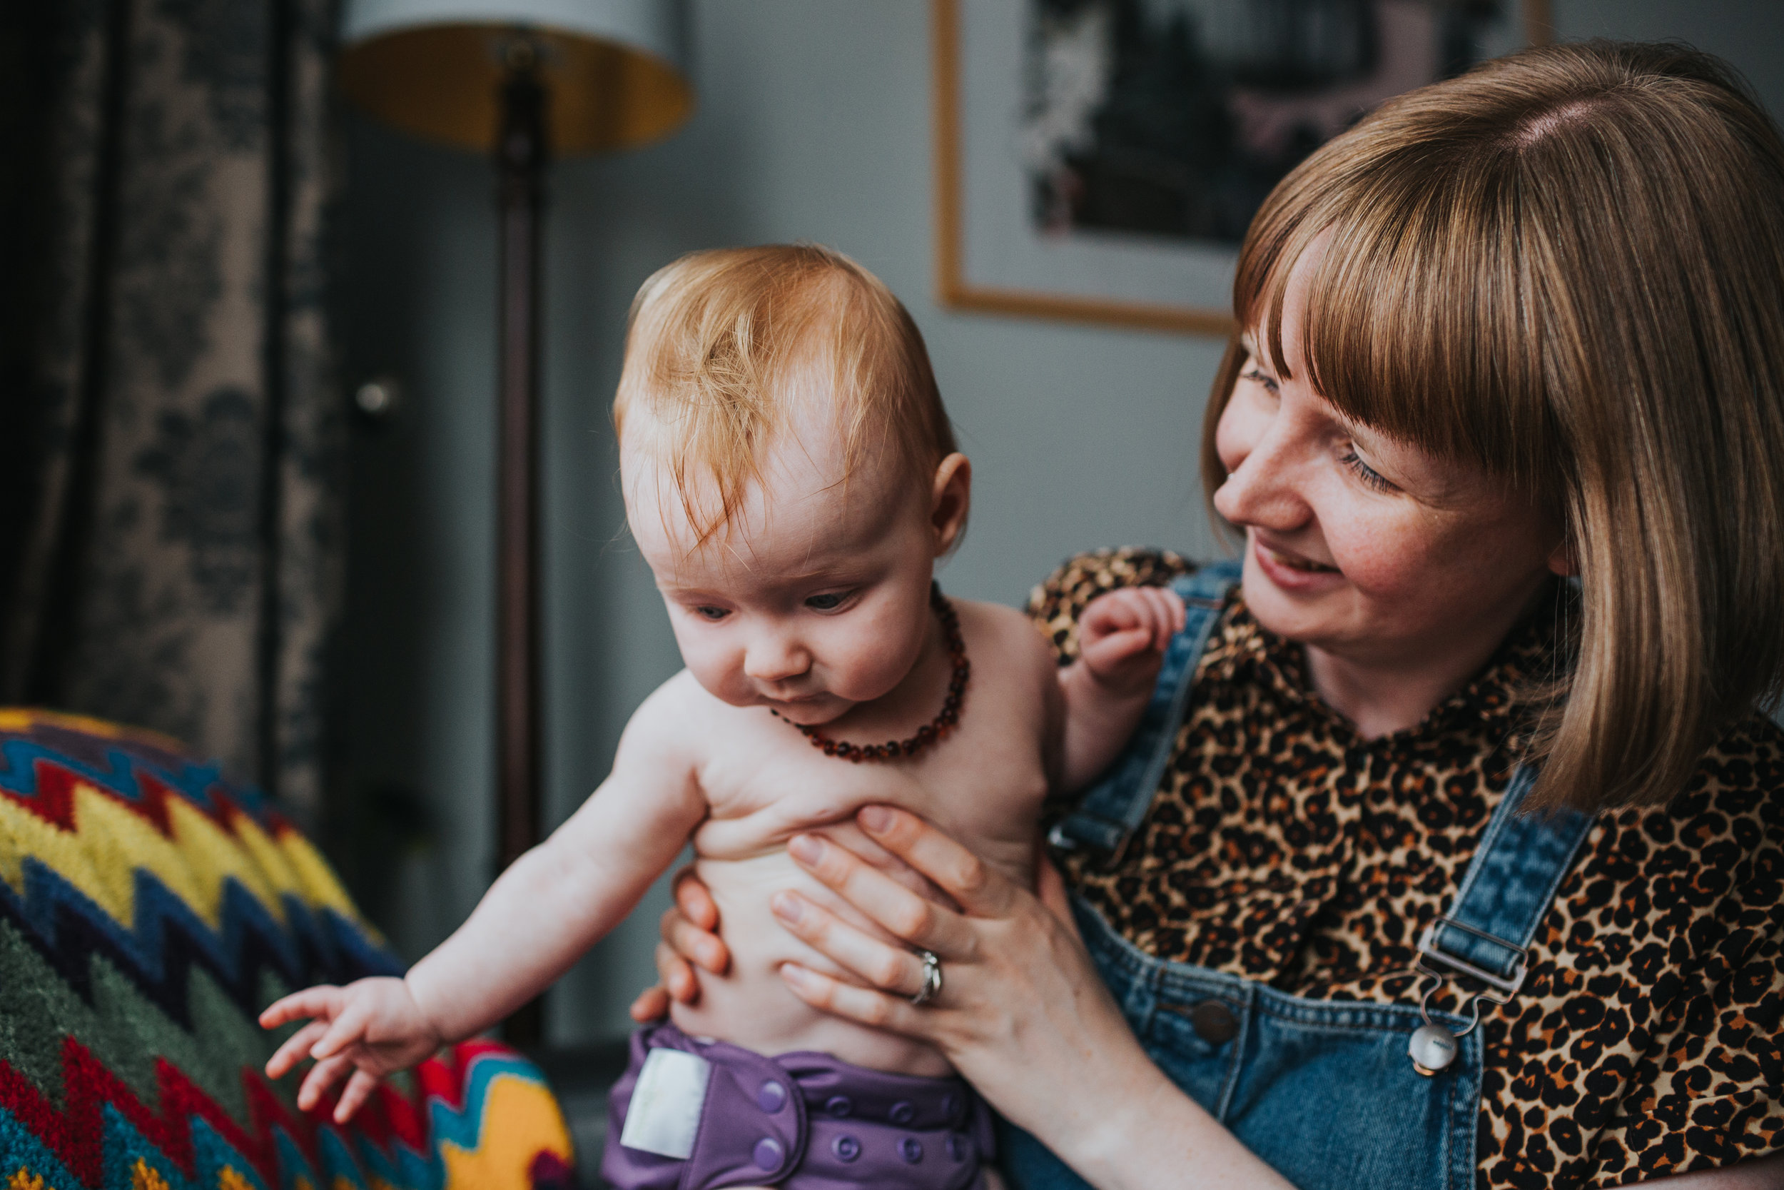
[[(500, 435), (496, 494), (496, 790), (500, 862), (539, 842), (539, 223), (544, 209), (546, 89), (537, 52), (514, 41), (501, 84)], [(503, 1026), (508, 1044), (537, 1049), (541, 999)]]

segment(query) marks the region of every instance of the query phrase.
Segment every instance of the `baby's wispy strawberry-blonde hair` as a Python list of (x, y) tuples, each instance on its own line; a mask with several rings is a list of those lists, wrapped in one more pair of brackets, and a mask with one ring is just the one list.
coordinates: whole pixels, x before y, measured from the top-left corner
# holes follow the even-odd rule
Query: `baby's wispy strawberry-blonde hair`
[[(917, 323), (878, 277), (819, 244), (692, 252), (632, 300), (614, 428), (646, 414), (649, 446), (681, 508), (708, 541), (762, 482), (762, 457), (787, 430), (796, 378), (830, 384), (846, 482), (890, 451), (928, 492), (954, 453)], [(701, 480), (710, 480), (705, 489)], [(717, 498), (717, 507), (703, 500)]]

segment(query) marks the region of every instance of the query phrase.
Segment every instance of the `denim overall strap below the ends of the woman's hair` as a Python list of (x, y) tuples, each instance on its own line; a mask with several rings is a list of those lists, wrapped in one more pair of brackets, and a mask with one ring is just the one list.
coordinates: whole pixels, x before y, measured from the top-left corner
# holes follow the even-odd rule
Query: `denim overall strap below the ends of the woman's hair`
[(1518, 814), (1536, 785), (1536, 773), (1524, 765), (1511, 774), (1511, 787), (1486, 822), (1456, 899), (1425, 928), (1418, 958), (1438, 967), (1427, 967), (1431, 974), (1472, 976), (1500, 996), (1515, 996), (1524, 985), (1536, 926), (1593, 824), (1593, 817), (1579, 810)]

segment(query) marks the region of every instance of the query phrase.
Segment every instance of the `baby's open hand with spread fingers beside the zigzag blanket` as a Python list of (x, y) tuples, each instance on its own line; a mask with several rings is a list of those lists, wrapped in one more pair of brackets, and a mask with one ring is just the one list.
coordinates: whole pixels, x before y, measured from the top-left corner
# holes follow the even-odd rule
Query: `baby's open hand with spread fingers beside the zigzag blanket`
[(268, 1060), (266, 1076), (284, 1078), (305, 1054), (316, 1058), (298, 1088), (298, 1106), (309, 1111), (351, 1069), (353, 1078), (335, 1104), (335, 1124), (353, 1117), (380, 1078), (416, 1065), (444, 1042), (401, 979), (359, 979), (344, 988), (325, 985), (294, 992), (260, 1013), (260, 1028), (277, 1029), (305, 1017), (310, 1022)]

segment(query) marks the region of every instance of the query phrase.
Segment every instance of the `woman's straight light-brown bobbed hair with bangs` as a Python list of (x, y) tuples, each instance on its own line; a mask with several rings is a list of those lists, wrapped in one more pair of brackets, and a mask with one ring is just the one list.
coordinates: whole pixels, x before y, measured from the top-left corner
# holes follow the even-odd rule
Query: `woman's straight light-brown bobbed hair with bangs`
[[(1552, 510), (1579, 569), (1538, 799), (1677, 794), (1784, 673), (1784, 143), (1679, 45), (1525, 50), (1383, 105), (1265, 200), (1233, 285), (1349, 417)], [(1243, 351), (1215, 382), (1215, 426)]]

